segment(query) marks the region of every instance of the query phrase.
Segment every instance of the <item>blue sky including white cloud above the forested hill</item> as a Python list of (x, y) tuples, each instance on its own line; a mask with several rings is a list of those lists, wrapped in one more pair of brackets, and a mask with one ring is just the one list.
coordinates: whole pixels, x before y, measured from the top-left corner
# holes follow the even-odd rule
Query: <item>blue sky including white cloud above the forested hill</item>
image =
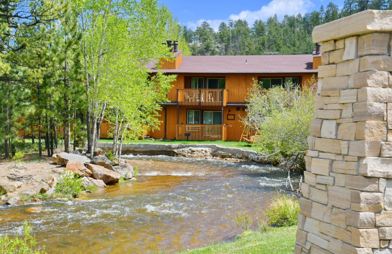
[[(208, 21), (217, 30), (219, 24), (228, 20), (243, 19), (249, 26), (255, 20), (266, 21), (275, 13), (279, 20), (286, 14), (296, 15), (319, 10), (330, 0), (158, 0), (166, 4), (180, 23), (193, 30), (202, 21)], [(339, 7), (343, 0), (333, 0)]]

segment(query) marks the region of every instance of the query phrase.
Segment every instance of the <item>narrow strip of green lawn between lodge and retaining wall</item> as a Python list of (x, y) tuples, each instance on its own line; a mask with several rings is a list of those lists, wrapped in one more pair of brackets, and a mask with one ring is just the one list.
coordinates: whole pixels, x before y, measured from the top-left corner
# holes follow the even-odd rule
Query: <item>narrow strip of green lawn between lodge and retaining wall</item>
[[(99, 143), (113, 143), (113, 139), (99, 139)], [(186, 141), (186, 140), (160, 140), (160, 139), (139, 139), (132, 140), (129, 143), (140, 143), (140, 144), (184, 144), (184, 145), (219, 145), (222, 147), (230, 148), (242, 148), (245, 150), (260, 151), (260, 148), (253, 147), (252, 144), (238, 141)]]

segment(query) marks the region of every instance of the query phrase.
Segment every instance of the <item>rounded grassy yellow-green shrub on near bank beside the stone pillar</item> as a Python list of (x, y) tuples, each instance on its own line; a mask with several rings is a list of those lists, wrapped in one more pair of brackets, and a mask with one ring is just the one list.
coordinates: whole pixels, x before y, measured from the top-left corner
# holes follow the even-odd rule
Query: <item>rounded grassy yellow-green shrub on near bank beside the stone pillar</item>
[(271, 225), (276, 227), (288, 227), (297, 224), (299, 204), (294, 197), (278, 193), (265, 211)]

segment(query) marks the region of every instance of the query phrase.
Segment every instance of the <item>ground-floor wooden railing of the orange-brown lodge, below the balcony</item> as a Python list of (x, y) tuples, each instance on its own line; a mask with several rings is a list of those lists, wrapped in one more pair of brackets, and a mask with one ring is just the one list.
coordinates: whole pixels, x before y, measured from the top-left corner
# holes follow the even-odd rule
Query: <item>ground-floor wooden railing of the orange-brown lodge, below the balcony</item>
[[(227, 125), (177, 125), (177, 140), (226, 140)], [(188, 133), (185, 135), (185, 133)]]

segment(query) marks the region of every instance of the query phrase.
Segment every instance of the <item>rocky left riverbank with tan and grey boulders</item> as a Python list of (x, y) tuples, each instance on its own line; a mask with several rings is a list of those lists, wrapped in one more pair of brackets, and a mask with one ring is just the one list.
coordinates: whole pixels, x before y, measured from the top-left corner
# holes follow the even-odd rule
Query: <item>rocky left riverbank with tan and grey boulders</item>
[(96, 150), (96, 156), (90, 160), (85, 152), (85, 149), (73, 153), (60, 152), (53, 154), (51, 159), (18, 164), (0, 162), (0, 204), (37, 202), (41, 198), (62, 199), (55, 187), (64, 170), (79, 175), (84, 190), (91, 189), (91, 186), (105, 188), (107, 184), (117, 183), (121, 177), (135, 180), (133, 168), (126, 160), (111, 161), (101, 149)]

